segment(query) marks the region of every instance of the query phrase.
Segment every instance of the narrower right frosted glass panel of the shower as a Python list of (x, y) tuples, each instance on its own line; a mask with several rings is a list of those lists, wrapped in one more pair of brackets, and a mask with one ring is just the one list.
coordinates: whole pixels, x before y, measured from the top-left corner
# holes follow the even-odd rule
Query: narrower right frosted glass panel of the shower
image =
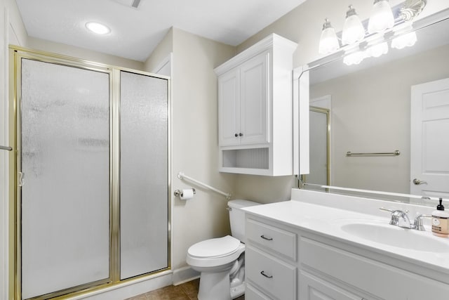
[(168, 267), (168, 81), (121, 72), (121, 279)]

